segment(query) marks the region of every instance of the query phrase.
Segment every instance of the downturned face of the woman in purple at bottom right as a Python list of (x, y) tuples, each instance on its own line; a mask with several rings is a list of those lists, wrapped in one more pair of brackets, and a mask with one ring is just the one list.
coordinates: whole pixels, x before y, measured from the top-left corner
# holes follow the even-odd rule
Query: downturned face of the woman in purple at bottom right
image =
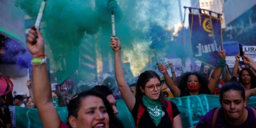
[(247, 99), (244, 101), (239, 91), (230, 90), (223, 93), (221, 106), (226, 117), (230, 120), (239, 119), (244, 114)]

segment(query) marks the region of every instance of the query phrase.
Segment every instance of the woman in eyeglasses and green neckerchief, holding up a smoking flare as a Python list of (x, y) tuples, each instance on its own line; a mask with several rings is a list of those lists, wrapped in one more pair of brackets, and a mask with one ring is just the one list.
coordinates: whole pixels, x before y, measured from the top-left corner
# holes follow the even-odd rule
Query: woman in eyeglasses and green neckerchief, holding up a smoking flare
[(140, 128), (181, 128), (180, 112), (175, 103), (162, 95), (162, 84), (154, 71), (140, 74), (133, 96), (125, 81), (121, 64), (121, 43), (117, 37), (111, 37), (110, 46), (114, 51), (115, 75), (121, 95), (130, 110), (136, 127)]

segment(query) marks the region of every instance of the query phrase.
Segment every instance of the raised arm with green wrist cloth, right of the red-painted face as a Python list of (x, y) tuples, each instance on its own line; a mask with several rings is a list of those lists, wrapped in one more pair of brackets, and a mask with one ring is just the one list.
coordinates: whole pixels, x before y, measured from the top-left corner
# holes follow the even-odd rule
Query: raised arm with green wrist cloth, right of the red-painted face
[[(220, 56), (220, 61), (225, 61), (226, 59), (226, 52), (225, 50), (220, 50), (220, 52), (218, 53), (218, 55)], [(211, 93), (213, 93), (214, 88), (216, 86), (217, 81), (220, 78), (221, 75), (221, 67), (224, 67), (226, 63), (221, 63), (220, 65), (217, 64), (217, 66), (215, 67), (213, 73), (211, 74), (211, 79), (208, 82), (208, 88), (211, 91)]]

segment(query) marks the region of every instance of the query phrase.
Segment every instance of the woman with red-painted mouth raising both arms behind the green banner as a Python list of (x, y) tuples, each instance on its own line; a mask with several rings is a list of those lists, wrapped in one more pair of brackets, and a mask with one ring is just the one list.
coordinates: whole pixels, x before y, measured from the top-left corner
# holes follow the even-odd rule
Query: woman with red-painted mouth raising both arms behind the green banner
[(220, 56), (220, 60), (218, 61), (209, 82), (207, 78), (199, 72), (187, 72), (180, 77), (178, 86), (175, 86), (166, 70), (166, 67), (162, 64), (158, 64), (157, 67), (159, 72), (163, 73), (166, 85), (170, 88), (174, 97), (183, 97), (187, 95), (197, 94), (212, 94), (216, 83), (220, 78), (221, 68), (225, 67), (226, 62), (225, 50), (220, 50), (220, 52), (218, 52), (218, 55)]

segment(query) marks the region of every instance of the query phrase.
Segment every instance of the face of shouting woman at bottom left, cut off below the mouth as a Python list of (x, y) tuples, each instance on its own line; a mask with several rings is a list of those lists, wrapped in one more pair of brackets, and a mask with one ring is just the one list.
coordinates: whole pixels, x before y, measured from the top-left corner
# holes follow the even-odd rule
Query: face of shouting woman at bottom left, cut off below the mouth
[(103, 100), (96, 96), (82, 99), (74, 124), (76, 128), (109, 128), (109, 115)]

